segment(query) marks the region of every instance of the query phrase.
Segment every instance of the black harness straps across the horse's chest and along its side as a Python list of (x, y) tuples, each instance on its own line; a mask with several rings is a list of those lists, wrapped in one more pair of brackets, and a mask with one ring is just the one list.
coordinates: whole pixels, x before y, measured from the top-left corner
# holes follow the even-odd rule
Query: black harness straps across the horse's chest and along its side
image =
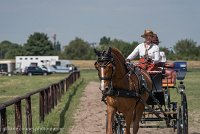
[[(129, 63), (130, 64), (130, 63)], [(115, 97), (125, 97), (125, 98), (135, 98), (137, 99), (136, 105), (140, 102), (142, 104), (144, 104), (146, 107), (148, 107), (148, 109), (153, 112), (158, 118), (161, 118), (159, 113), (157, 113), (156, 111), (154, 111), (141, 97), (141, 95), (144, 92), (147, 92), (151, 98), (157, 103), (159, 109), (161, 110), (161, 112), (163, 113), (163, 115), (165, 117), (167, 117), (167, 115), (164, 113), (164, 111), (162, 110), (159, 101), (153, 96), (152, 92), (148, 91), (147, 88), (147, 84), (146, 84), (146, 80), (144, 79), (144, 76), (141, 73), (140, 68), (131, 65), (132, 67), (130, 68), (130, 65), (126, 65), (127, 69), (129, 70), (127, 75), (128, 77), (131, 77), (131, 75), (134, 73), (137, 78), (138, 78), (138, 82), (139, 82), (139, 92), (137, 91), (133, 91), (133, 90), (129, 90), (129, 89), (121, 89), (121, 88), (115, 88), (113, 86), (111, 86), (105, 93), (102, 93), (102, 99), (101, 101), (103, 101), (106, 105), (106, 96), (115, 96)], [(100, 80), (112, 80), (112, 77), (100, 77)], [(130, 79), (129, 79), (130, 80)], [(130, 83), (130, 81), (129, 81)], [(135, 105), (135, 107), (136, 107)], [(167, 118), (166, 118), (167, 119)], [(169, 125), (168, 120), (166, 120), (167, 125)]]

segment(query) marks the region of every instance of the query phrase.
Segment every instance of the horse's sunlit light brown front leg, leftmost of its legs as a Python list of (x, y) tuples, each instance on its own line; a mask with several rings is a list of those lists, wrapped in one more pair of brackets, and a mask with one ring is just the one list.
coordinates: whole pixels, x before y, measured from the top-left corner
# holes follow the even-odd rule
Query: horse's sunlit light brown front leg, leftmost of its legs
[(113, 123), (113, 117), (115, 114), (116, 110), (112, 106), (107, 105), (107, 119), (108, 119), (108, 126), (106, 129), (106, 134), (113, 134), (112, 132), (112, 123)]

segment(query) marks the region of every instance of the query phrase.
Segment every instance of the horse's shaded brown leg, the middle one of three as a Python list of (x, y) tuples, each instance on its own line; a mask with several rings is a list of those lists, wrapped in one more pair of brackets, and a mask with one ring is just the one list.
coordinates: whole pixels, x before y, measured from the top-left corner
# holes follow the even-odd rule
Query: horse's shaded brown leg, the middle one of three
[(131, 126), (131, 121), (133, 120), (133, 110), (130, 110), (127, 112), (125, 115), (125, 121), (126, 121), (126, 129), (125, 129), (125, 134), (130, 134), (130, 126)]

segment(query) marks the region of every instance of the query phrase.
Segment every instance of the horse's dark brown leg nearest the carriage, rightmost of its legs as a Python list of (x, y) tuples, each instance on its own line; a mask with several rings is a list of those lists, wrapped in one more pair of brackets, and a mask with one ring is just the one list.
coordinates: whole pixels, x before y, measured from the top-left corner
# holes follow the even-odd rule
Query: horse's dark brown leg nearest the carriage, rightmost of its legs
[(139, 122), (142, 118), (142, 114), (144, 111), (144, 105), (142, 103), (138, 103), (133, 114), (133, 134), (137, 134), (139, 129)]

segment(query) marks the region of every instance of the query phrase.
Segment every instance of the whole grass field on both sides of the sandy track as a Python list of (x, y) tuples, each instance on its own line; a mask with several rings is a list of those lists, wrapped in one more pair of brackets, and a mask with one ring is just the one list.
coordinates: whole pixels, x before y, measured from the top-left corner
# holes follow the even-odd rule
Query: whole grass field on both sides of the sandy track
[[(38, 89), (49, 85), (49, 83), (61, 80), (66, 75), (53, 75), (53, 76), (13, 76), (13, 77), (0, 77), (0, 103), (11, 99), (13, 96), (22, 95), (34, 89)], [(45, 79), (44, 79), (45, 78)], [(186, 95), (188, 99), (189, 109), (189, 125), (198, 126), (200, 124), (200, 69), (189, 69), (184, 80), (186, 86)], [(42, 80), (44, 80), (42, 82)], [(38, 96), (32, 98), (34, 106), (33, 111), (33, 128), (36, 130), (34, 133), (49, 133), (47, 130), (38, 131), (39, 128), (62, 128), (59, 134), (67, 133), (69, 128), (73, 125), (73, 113), (78, 108), (82, 92), (89, 81), (98, 81), (96, 70), (81, 70), (81, 78), (70, 88), (70, 90), (62, 97), (59, 103), (52, 112), (45, 117), (44, 123), (39, 123), (38, 114)], [(32, 84), (30, 84), (32, 83)], [(5, 96), (8, 96), (7, 98)], [(179, 101), (180, 95), (175, 89), (171, 90), (172, 101)], [(23, 104), (24, 106), (24, 104)], [(12, 127), (14, 122), (13, 107), (7, 109), (8, 126)], [(25, 112), (25, 111), (23, 111)], [(23, 113), (25, 114), (25, 113)], [(25, 119), (23, 118), (23, 121)], [(12, 133), (12, 132), (11, 132)]]

